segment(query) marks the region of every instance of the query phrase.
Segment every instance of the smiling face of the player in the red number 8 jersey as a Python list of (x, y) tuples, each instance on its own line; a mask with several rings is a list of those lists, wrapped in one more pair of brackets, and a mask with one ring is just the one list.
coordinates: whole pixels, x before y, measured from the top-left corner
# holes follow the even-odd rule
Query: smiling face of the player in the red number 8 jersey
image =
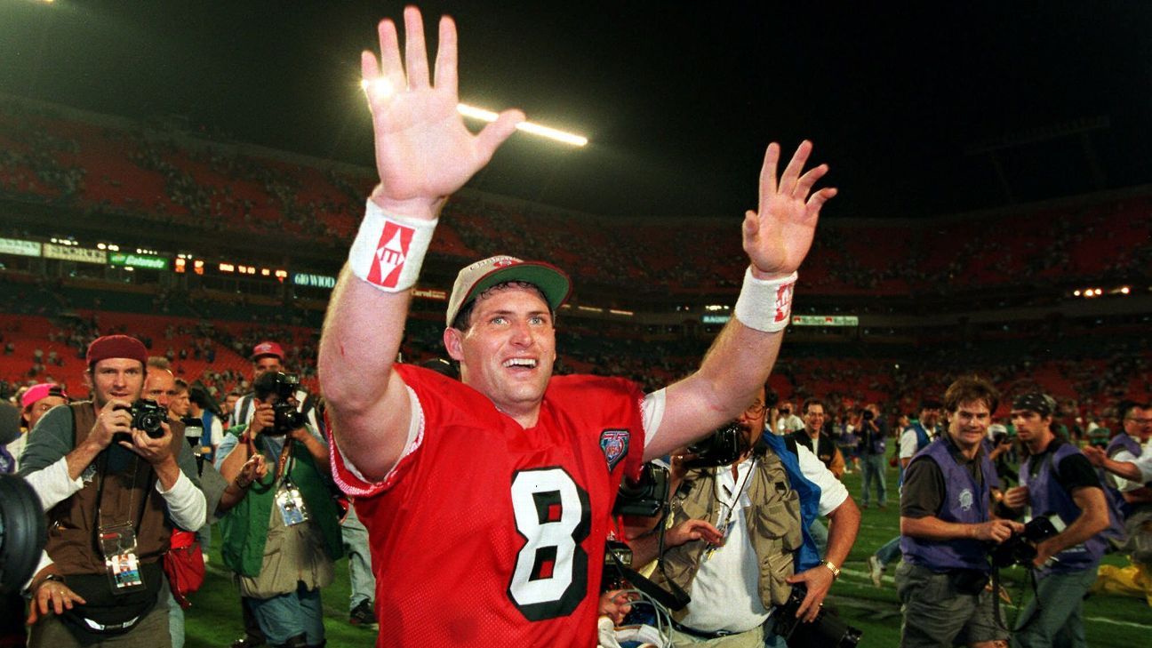
[(521, 425), (536, 424), (556, 360), (556, 332), (535, 287), (501, 285), (476, 300), (464, 331), (446, 329), (448, 355), (460, 379), (488, 397)]

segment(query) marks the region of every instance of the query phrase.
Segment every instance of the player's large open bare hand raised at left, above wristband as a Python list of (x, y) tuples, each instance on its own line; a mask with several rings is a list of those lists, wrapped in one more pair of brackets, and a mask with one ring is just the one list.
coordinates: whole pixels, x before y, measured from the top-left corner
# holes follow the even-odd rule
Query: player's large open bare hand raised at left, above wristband
[(431, 218), (437, 202), (487, 164), (524, 115), (505, 111), (472, 135), (456, 112), (455, 23), (447, 16), (440, 18), (434, 85), (429, 77), (424, 21), (416, 7), (404, 9), (404, 31), (403, 60), (391, 20), (379, 24), (380, 60), (372, 52), (361, 54), (380, 173), (372, 199), (393, 213)]

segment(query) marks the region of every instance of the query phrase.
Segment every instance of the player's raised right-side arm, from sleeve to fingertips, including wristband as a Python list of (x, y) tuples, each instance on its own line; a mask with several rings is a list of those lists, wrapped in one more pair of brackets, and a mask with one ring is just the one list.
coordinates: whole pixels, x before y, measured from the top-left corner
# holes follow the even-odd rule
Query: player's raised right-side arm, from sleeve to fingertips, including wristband
[(751, 264), (735, 316), (700, 368), (668, 387), (665, 415), (652, 443), (644, 447), (645, 459), (688, 445), (735, 419), (767, 379), (788, 323), (794, 273), (812, 247), (820, 208), (836, 195), (832, 188), (812, 193), (828, 166), (802, 173), (811, 152), (811, 142), (801, 143), (778, 180), (780, 145), (768, 145), (760, 169), (759, 209), (745, 214), (742, 227)]

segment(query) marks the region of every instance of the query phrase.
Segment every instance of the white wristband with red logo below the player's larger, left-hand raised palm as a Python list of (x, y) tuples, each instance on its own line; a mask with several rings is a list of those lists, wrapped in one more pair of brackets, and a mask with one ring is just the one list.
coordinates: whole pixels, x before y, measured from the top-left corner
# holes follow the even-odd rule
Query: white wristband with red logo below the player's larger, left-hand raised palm
[(416, 285), (437, 220), (389, 216), (371, 199), (348, 251), (353, 274), (386, 293)]

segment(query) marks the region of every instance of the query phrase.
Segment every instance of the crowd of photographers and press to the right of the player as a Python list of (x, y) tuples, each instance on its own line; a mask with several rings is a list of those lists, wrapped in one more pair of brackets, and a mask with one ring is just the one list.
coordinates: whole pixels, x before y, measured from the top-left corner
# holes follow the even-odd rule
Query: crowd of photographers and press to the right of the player
[[(846, 430), (826, 421), (824, 402), (794, 408), (761, 394), (727, 429), (674, 452), (662, 477), (644, 473), (649, 487), (622, 488), (616, 512), (631, 515), (624, 518), (630, 551), (606, 557), (601, 612), (612, 623), (604, 624), (601, 646), (634, 639), (635, 624), (649, 624), (641, 627), (650, 638), (673, 646), (856, 645), (858, 631), (826, 613), (817, 619), (809, 604), (823, 601), (855, 540), (859, 512), (836, 479), (861, 450), (899, 467), (900, 534), (867, 563), (882, 587), (888, 565), (902, 558), (895, 570), (901, 646), (1087, 646), (1082, 609), (1093, 588), (1147, 596), (1152, 604), (1152, 588), (1142, 585), (1152, 568), (1145, 451), (1152, 407), (1122, 401), (1115, 432), (1096, 427), (1082, 439), (1059, 422), (1060, 404), (1043, 392), (1017, 394), (1003, 423), (993, 417), (1000, 399), (986, 379), (961, 378), (942, 400), (927, 399), (900, 417), (902, 424), (889, 424), (876, 406), (863, 408), (848, 432), (859, 424), (864, 434), (856, 428), (844, 444)], [(761, 476), (768, 466), (788, 465), (780, 461), (788, 457), (802, 469)], [(758, 485), (765, 479), (775, 489)], [(812, 484), (814, 510), (808, 507)], [(881, 485), (881, 507), (884, 492)], [(869, 493), (857, 495), (867, 506)], [(660, 506), (637, 510), (645, 498)], [(831, 526), (823, 543), (813, 528), (820, 515)], [(1111, 551), (1131, 564), (1101, 567)], [(644, 578), (617, 566), (621, 552), (637, 570), (660, 559)], [(1009, 613), (1000, 571), (1013, 566), (1028, 568), (1031, 585), (1023, 606)], [(812, 574), (832, 578), (814, 583)], [(621, 587), (672, 610), (670, 627), (658, 631), (660, 619), (643, 611), (649, 606), (622, 610), (638, 595), (622, 597)], [(795, 624), (796, 617), (814, 623)]]

